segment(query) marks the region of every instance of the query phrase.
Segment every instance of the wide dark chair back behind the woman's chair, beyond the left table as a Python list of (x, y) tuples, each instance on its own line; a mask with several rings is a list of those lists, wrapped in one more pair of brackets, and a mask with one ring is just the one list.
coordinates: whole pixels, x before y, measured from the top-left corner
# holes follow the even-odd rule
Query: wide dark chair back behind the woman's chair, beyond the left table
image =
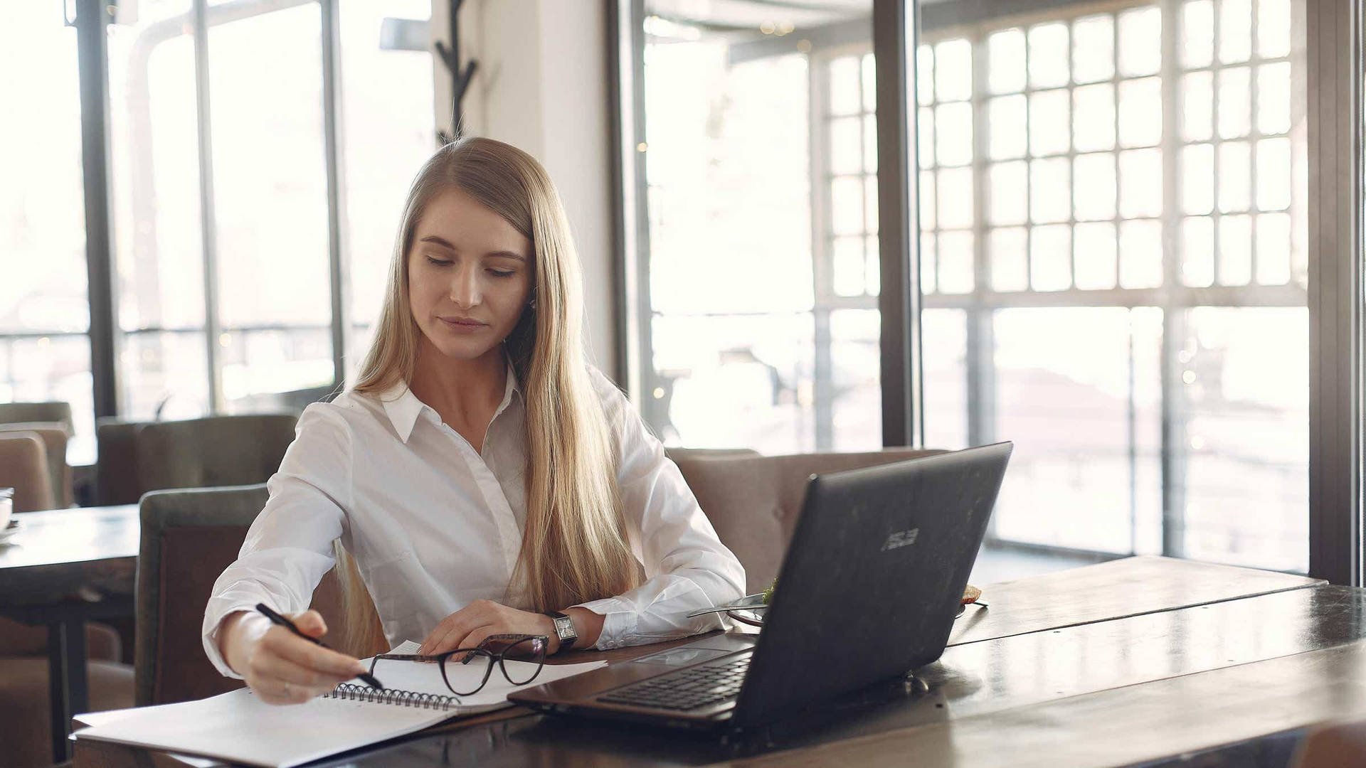
[(167, 488), (265, 482), (294, 441), (296, 421), (292, 414), (102, 420), (96, 430), (100, 503), (131, 504), (148, 491)]

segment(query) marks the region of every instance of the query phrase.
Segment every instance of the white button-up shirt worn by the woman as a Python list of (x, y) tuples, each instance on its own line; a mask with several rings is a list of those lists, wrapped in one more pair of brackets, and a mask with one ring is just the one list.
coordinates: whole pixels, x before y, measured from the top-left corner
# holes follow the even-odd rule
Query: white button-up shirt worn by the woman
[[(582, 605), (604, 616), (596, 648), (656, 642), (724, 626), (688, 611), (744, 593), (744, 568), (716, 536), (664, 447), (622, 392), (590, 369), (617, 450), (627, 537), (646, 581)], [(225, 675), (217, 630), (265, 603), (306, 611), (333, 564), (355, 558), (391, 645), (421, 641), (474, 600), (526, 608), (512, 584), (526, 523), (526, 411), (512, 366), (481, 451), (406, 387), (343, 392), (305, 409), (270, 497), (238, 560), (213, 585), (204, 649)]]

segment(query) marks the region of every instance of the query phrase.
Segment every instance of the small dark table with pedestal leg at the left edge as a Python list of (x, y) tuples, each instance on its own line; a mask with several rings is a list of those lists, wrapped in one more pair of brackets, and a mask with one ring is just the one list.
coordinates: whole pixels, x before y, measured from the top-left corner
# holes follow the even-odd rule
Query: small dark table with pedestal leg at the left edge
[(20, 512), (0, 545), (0, 615), (48, 627), (52, 754), (68, 758), (71, 716), (89, 708), (85, 623), (133, 615), (138, 506)]

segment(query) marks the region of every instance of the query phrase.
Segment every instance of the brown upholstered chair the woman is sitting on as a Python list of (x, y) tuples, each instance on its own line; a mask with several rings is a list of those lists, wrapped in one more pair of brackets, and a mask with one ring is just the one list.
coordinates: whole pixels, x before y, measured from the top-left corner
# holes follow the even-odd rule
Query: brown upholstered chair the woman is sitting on
[[(264, 484), (153, 491), (142, 497), (137, 577), (137, 705), (204, 698), (242, 686), (224, 678), (199, 640), (213, 582), (234, 560), (265, 506)], [(336, 571), (313, 593), (329, 644), (342, 633)]]

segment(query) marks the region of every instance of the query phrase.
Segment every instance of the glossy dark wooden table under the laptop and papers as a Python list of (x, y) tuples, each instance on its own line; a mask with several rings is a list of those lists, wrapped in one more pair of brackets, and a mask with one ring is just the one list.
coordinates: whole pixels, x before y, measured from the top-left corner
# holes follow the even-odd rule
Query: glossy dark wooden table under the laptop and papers
[[(1131, 558), (984, 592), (990, 608), (970, 608), (943, 659), (917, 679), (743, 739), (508, 709), (317, 765), (1100, 767), (1277, 738), (1294, 745), (1298, 728), (1366, 715), (1362, 589)], [(656, 649), (581, 650), (563, 661)], [(75, 756), (78, 768), (175, 764), (79, 738)]]

